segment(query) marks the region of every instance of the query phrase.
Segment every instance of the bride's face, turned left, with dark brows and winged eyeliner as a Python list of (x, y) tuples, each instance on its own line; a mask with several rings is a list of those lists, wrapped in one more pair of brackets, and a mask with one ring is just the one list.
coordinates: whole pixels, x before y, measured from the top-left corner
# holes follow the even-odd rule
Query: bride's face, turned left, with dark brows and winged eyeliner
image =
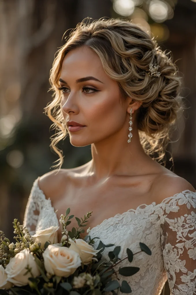
[(59, 81), (63, 88), (61, 111), (67, 129), (67, 121), (85, 125), (75, 132), (68, 129), (72, 145), (90, 145), (122, 129), (129, 102), (120, 100), (117, 82), (106, 75), (99, 56), (90, 47), (82, 46), (67, 53)]

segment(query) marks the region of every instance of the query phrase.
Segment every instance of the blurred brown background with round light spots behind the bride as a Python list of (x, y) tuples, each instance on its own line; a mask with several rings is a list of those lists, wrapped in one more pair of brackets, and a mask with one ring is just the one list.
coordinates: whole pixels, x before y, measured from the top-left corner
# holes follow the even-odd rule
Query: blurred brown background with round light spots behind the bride
[[(33, 181), (58, 159), (43, 109), (51, 101), (49, 71), (64, 32), (85, 17), (132, 19), (171, 51), (187, 109), (167, 147), (166, 167), (196, 187), (196, 0), (0, 0), (0, 229), (11, 241), (12, 221), (23, 222)], [(62, 168), (91, 160), (90, 145), (73, 147), (67, 137), (58, 146)]]

